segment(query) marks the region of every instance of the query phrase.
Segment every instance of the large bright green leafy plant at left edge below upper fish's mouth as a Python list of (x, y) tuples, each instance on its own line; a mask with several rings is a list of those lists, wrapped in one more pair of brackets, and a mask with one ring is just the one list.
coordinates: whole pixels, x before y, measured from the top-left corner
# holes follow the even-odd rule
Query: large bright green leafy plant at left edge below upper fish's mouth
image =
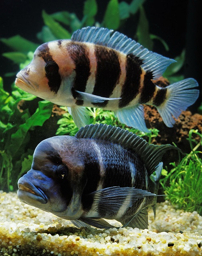
[(36, 97), (17, 87), (11, 94), (7, 93), (3, 89), (2, 78), (0, 95), (0, 189), (13, 190), (17, 188), (21, 173), (28, 171), (32, 163), (33, 150), (27, 148), (29, 130), (43, 125), (50, 117), (53, 104), (40, 101), (32, 115), (28, 109), (19, 111), (20, 101), (30, 101)]

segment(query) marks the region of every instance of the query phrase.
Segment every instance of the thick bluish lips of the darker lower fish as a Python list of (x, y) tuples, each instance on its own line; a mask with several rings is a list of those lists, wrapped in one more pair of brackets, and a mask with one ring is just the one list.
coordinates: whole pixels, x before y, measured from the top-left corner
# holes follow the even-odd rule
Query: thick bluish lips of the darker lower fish
[[(48, 203), (48, 197), (46, 197), (45, 193), (40, 188), (34, 186), (32, 182), (29, 182), (25, 177), (19, 179), (18, 188), (17, 196), (21, 201), (28, 204), (30, 204), (32, 200), (33, 202), (37, 201), (42, 204)], [(33, 203), (33, 205), (35, 205), (35, 203)]]

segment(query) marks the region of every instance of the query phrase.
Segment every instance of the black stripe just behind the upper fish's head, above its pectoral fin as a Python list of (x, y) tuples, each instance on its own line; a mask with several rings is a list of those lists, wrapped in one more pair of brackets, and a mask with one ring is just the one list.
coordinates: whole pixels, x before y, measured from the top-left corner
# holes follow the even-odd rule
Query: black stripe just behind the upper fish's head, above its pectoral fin
[[(67, 44), (67, 51), (75, 64), (76, 77), (72, 87), (72, 95), (76, 99), (79, 94), (75, 90), (85, 92), (86, 83), (90, 76), (90, 60), (84, 43), (72, 41)], [(79, 106), (83, 105), (83, 103), (82, 99), (76, 100), (76, 104)]]

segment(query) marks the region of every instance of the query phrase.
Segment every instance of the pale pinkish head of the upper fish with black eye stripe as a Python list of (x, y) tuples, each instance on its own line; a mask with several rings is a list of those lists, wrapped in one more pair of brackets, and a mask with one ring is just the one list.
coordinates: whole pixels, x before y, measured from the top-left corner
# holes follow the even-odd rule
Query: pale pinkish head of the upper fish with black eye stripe
[(17, 73), (15, 80), (17, 87), (56, 104), (60, 103), (58, 95), (63, 94), (60, 89), (64, 78), (73, 70), (67, 51), (65, 47), (60, 47), (59, 41), (61, 40), (40, 45), (31, 63)]

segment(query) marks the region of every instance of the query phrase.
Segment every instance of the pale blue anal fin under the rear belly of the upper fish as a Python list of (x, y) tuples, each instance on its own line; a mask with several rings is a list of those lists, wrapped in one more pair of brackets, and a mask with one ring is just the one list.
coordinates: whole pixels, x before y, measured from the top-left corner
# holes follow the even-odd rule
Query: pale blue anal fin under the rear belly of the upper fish
[(118, 120), (127, 126), (140, 131), (150, 132), (145, 124), (144, 107), (142, 105), (132, 106), (130, 108), (120, 108), (114, 111)]

